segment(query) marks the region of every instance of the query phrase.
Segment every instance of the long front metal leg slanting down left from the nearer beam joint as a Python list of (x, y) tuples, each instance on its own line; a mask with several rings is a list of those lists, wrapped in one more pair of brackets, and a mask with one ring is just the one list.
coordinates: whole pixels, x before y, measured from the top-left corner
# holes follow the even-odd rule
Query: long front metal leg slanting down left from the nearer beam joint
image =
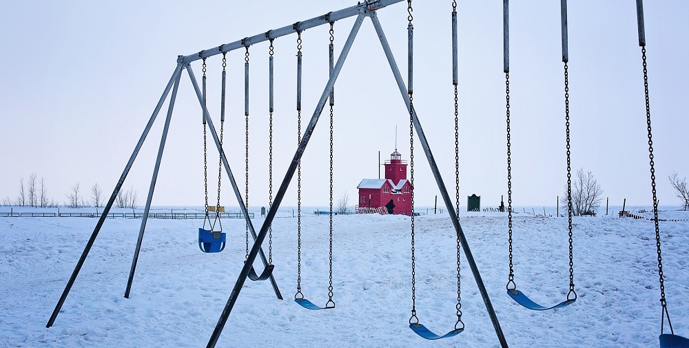
[[(242, 290), (245, 281), (247, 280), (249, 269), (251, 269), (251, 263), (253, 263), (256, 259), (256, 254), (258, 254), (260, 245), (261, 243), (263, 243), (263, 240), (265, 239), (265, 236), (268, 232), (268, 227), (271, 225), (273, 218), (275, 217), (275, 214), (278, 210), (278, 207), (280, 207), (282, 198), (285, 196), (285, 192), (287, 192), (287, 187), (289, 187), (289, 182), (291, 181), (292, 176), (294, 176), (294, 172), (296, 171), (296, 167), (301, 159), (301, 156), (309, 143), (309, 139), (311, 139), (311, 134), (313, 134), (313, 130), (316, 128), (316, 123), (318, 123), (320, 114), (323, 112), (323, 108), (325, 108), (325, 103), (329, 98), (329, 94), (333, 89), (333, 85), (335, 85), (335, 81), (337, 80), (338, 75), (340, 74), (340, 70), (342, 70), (342, 65), (345, 63), (345, 59), (347, 59), (349, 49), (351, 48), (351, 45), (354, 42), (354, 38), (356, 37), (356, 34), (359, 31), (359, 28), (361, 27), (361, 23), (364, 20), (365, 12), (366, 10), (362, 10), (362, 12), (359, 14), (359, 17), (354, 22), (354, 26), (351, 29), (349, 37), (347, 38), (345, 47), (342, 48), (342, 52), (340, 53), (338, 63), (335, 65), (333, 73), (330, 75), (330, 79), (328, 80), (328, 83), (325, 86), (322, 95), (320, 96), (320, 101), (318, 101), (316, 111), (313, 112), (313, 116), (311, 116), (311, 121), (309, 121), (309, 125), (307, 126), (306, 131), (304, 132), (304, 136), (302, 136), (302, 141), (299, 143), (299, 146), (297, 147), (296, 153), (294, 154), (294, 158), (292, 158), (292, 162), (289, 165), (289, 168), (287, 169), (287, 173), (285, 174), (285, 178), (282, 179), (282, 184), (280, 184), (280, 190), (278, 190), (278, 193), (275, 196), (275, 201), (268, 210), (268, 214), (266, 215), (265, 221), (263, 221), (263, 226), (261, 226), (260, 232), (258, 233), (258, 238), (256, 238), (254, 246), (251, 247), (251, 252), (249, 252), (249, 258), (247, 258), (247, 262), (244, 264), (244, 267), (242, 268), (242, 271), (240, 272), (237, 278), (237, 282), (234, 285), (234, 289), (232, 289), (232, 294), (229, 295), (229, 299), (225, 304), (223, 313), (220, 314), (218, 324), (216, 325), (213, 334), (211, 335), (208, 341), (208, 348), (215, 347), (218, 343), (218, 338), (220, 338), (220, 334), (222, 333), (223, 328), (225, 327), (225, 323), (227, 323), (227, 318), (229, 318), (229, 314), (230, 312), (232, 312), (232, 308), (234, 307), (234, 304), (237, 301), (239, 293)], [(196, 88), (196, 90), (198, 91), (198, 88)]]

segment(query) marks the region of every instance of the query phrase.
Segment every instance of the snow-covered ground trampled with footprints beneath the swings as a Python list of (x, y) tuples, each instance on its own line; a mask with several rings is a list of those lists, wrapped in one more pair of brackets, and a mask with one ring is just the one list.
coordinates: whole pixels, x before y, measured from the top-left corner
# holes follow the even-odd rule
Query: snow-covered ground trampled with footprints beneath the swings
[[(568, 291), (567, 219), (524, 211), (514, 218), (515, 280), (536, 302), (558, 303)], [(247, 281), (218, 347), (499, 347), (463, 257), (464, 332), (428, 341), (409, 329), (407, 216), (335, 216), (337, 307), (303, 309), (292, 300), (297, 221), (289, 209), (280, 216), (274, 221), (273, 260), (285, 300), (276, 299), (269, 282)], [(689, 214), (666, 209), (661, 218)], [(302, 289), (320, 305), (328, 291), (328, 221), (302, 217)], [(46, 328), (95, 223), (94, 218), (0, 218), (0, 347), (204, 347), (243, 264), (244, 222), (223, 221), (227, 248), (204, 254), (196, 242), (202, 221), (149, 220), (132, 294), (125, 299), (141, 220), (108, 219), (63, 311)], [(256, 229), (261, 223), (257, 214)], [(657, 347), (661, 307), (652, 221), (617, 214), (574, 218), (579, 298), (552, 311), (524, 309), (506, 294), (504, 213), (463, 212), (461, 223), (511, 347)], [(416, 232), (418, 316), (444, 333), (456, 318), (455, 234), (446, 214), (419, 216)], [(684, 336), (689, 335), (688, 232), (689, 221), (661, 222), (668, 305), (675, 332)], [(267, 253), (267, 244), (264, 249)], [(260, 261), (256, 266), (263, 269)]]

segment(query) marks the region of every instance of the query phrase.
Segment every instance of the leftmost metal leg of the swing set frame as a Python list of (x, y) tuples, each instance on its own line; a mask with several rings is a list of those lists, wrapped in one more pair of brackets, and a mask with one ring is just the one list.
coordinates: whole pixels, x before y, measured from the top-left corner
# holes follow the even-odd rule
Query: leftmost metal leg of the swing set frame
[(55, 309), (52, 311), (52, 315), (50, 316), (50, 319), (48, 320), (48, 324), (45, 325), (45, 327), (51, 327), (53, 325), (53, 323), (55, 322), (55, 318), (57, 318), (57, 315), (60, 313), (60, 309), (62, 308), (62, 305), (65, 303), (65, 299), (67, 298), (68, 294), (70, 294), (70, 290), (72, 289), (72, 285), (74, 285), (74, 281), (76, 280), (76, 276), (79, 275), (79, 271), (81, 270), (81, 267), (83, 266), (83, 263), (86, 260), (86, 257), (88, 256), (88, 253), (90, 252), (91, 247), (93, 246), (93, 243), (96, 241), (96, 236), (98, 236), (98, 233), (101, 231), (101, 227), (103, 226), (103, 223), (105, 222), (105, 218), (107, 218), (107, 213), (110, 212), (110, 208), (112, 207), (112, 204), (115, 202), (115, 198), (117, 197), (117, 194), (120, 192), (120, 189), (121, 189), (122, 185), (124, 184), (125, 178), (127, 178), (127, 174), (129, 174), (129, 171), (132, 168), (132, 165), (134, 164), (134, 160), (136, 159), (136, 156), (138, 155), (139, 150), (141, 150), (141, 146), (143, 145), (143, 142), (146, 140), (146, 136), (148, 135), (148, 132), (151, 130), (151, 127), (153, 126), (154, 121), (156, 121), (156, 116), (158, 116), (158, 112), (160, 112), (161, 108), (163, 107), (163, 103), (165, 103), (165, 99), (167, 98), (167, 93), (169, 92), (170, 88), (172, 88), (172, 83), (177, 79), (181, 70), (182, 70), (182, 67), (180, 65), (177, 65), (177, 68), (172, 73), (172, 77), (170, 77), (170, 81), (167, 83), (167, 86), (165, 87), (165, 91), (163, 92), (161, 99), (158, 101), (158, 105), (156, 105), (156, 109), (153, 111), (151, 118), (148, 120), (148, 124), (146, 125), (145, 129), (143, 130), (143, 134), (141, 134), (141, 138), (138, 139), (138, 143), (136, 143), (136, 147), (134, 147), (134, 152), (132, 152), (132, 156), (130, 156), (130, 159), (127, 162), (127, 165), (125, 165), (125, 170), (123, 170), (119, 181), (117, 181), (117, 184), (115, 185), (115, 188), (112, 191), (112, 195), (110, 195), (110, 200), (107, 201), (105, 208), (103, 208), (103, 213), (101, 214), (101, 218), (99, 218), (98, 223), (96, 223), (96, 227), (93, 229), (93, 233), (91, 234), (91, 238), (89, 238), (88, 243), (86, 243), (86, 247), (84, 247), (84, 251), (81, 253), (81, 257), (79, 258), (79, 261), (76, 263), (76, 267), (74, 267), (74, 272), (72, 272), (72, 276), (70, 277), (70, 280), (68, 281), (67, 286), (65, 286), (65, 289), (62, 292), (62, 296), (60, 296), (60, 299), (57, 301), (57, 305), (55, 306)]

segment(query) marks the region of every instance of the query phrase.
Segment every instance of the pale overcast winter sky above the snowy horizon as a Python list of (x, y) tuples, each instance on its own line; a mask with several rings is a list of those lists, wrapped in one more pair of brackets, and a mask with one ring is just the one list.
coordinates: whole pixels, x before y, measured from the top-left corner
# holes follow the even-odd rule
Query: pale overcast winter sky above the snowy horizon
[[(497, 206), (507, 191), (502, 1), (457, 1), (459, 19), (460, 196)], [(178, 54), (192, 54), (356, 5), (356, 1), (8, 1), (0, 0), (0, 198), (14, 200), (21, 178), (45, 178), (48, 197), (68, 201), (79, 183), (85, 199), (98, 183), (106, 196), (150, 118)], [(653, 140), (662, 205), (678, 199), (667, 176), (689, 176), (688, 30), (683, 0), (646, 1)], [(635, 1), (570, 1), (569, 81), (572, 166), (593, 172), (610, 205), (650, 205), (641, 49)], [(415, 108), (454, 196), (451, 1), (414, 1)], [(406, 1), (378, 11), (407, 67)], [(511, 1), (511, 119), (514, 205), (555, 205), (566, 183), (564, 74), (559, 1)], [(353, 18), (335, 25), (339, 53)], [(327, 81), (328, 28), (302, 33), (304, 125)], [(275, 43), (274, 193), (296, 150), (296, 35)], [(250, 48), (249, 204), (268, 201), (267, 43)], [(225, 151), (243, 192), (244, 52), (227, 54)], [(219, 126), (220, 56), (207, 61), (209, 112)], [(200, 79), (200, 61), (192, 64)], [(406, 76), (406, 74), (404, 74)], [(125, 187), (145, 203), (160, 142), (163, 108)], [(203, 128), (185, 73), (172, 118), (154, 205), (203, 205)], [(409, 121), (373, 25), (367, 19), (336, 84), (337, 201), (356, 203), (362, 178), (378, 178), (397, 147), (409, 159)], [(328, 202), (328, 117), (302, 159), (305, 205)], [(214, 197), (217, 152), (209, 152)], [(417, 205), (439, 194), (420, 145)], [(211, 198), (214, 204), (215, 198)], [(223, 205), (236, 205), (227, 178)], [(296, 205), (296, 183), (282, 205)]]

